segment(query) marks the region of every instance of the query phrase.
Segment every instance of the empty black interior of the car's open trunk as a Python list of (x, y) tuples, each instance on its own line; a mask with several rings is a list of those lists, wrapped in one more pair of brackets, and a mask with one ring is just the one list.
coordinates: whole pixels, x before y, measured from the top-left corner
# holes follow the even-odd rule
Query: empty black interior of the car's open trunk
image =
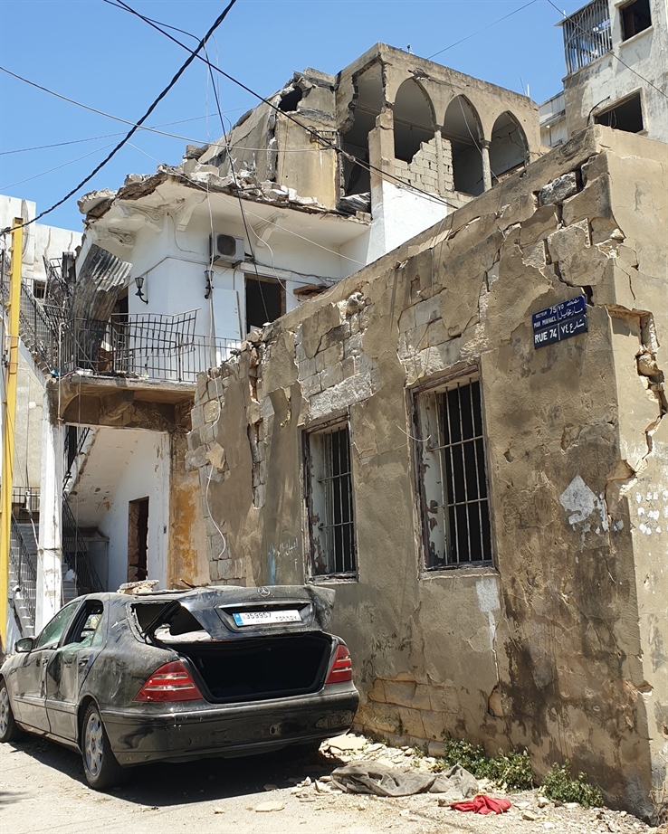
[(257, 701), (316, 692), (329, 668), (331, 639), (322, 633), (258, 640), (178, 643), (215, 703)]

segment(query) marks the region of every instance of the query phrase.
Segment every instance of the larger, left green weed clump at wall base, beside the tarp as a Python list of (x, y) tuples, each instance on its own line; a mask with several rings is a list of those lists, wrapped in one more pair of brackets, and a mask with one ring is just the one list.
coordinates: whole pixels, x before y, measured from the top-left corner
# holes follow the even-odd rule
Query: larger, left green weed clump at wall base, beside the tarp
[(460, 764), (464, 770), (472, 773), (476, 779), (489, 779), (491, 782), (505, 784), (520, 791), (533, 787), (533, 772), (530, 758), (526, 751), (503, 753), (488, 756), (482, 744), (471, 744), (463, 739), (444, 734), (445, 751), (443, 757), (434, 765), (434, 771), (444, 771), (453, 764)]

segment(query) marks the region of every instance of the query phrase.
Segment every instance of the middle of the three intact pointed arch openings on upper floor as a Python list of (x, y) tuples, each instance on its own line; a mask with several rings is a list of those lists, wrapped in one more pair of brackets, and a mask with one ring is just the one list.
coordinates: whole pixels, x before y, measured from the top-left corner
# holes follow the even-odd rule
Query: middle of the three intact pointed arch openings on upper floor
[(457, 96), (448, 105), (443, 134), (453, 155), (454, 190), (482, 194), (482, 130), (478, 114), (465, 96)]

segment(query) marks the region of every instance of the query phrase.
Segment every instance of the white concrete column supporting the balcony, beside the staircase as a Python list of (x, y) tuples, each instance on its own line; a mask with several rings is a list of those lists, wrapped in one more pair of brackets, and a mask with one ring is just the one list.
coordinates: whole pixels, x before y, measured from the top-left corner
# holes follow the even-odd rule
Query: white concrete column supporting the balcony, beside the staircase
[(43, 399), (40, 531), (35, 634), (62, 605), (62, 479), (65, 427), (47, 390)]

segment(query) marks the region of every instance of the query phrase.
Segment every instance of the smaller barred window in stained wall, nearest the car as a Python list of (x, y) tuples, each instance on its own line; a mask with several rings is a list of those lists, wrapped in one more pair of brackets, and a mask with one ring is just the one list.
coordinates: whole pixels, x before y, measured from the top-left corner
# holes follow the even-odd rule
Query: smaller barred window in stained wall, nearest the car
[(310, 575), (357, 575), (350, 433), (341, 423), (304, 435)]

